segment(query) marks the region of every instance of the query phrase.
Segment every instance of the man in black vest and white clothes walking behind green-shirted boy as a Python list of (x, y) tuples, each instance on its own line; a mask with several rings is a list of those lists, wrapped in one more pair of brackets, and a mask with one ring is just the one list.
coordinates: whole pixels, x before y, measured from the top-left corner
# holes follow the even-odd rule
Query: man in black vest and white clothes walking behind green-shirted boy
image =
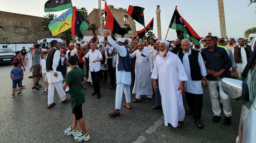
[(46, 56), (46, 73), (48, 78), (48, 106), (47, 108), (51, 108), (56, 103), (54, 103), (54, 89), (59, 94), (59, 99), (61, 103), (69, 102), (70, 98), (66, 98), (65, 91), (62, 88), (62, 74), (59, 68), (59, 59), (60, 59), (60, 51), (59, 51), (59, 43), (56, 40), (52, 40), (51, 42), (52, 49), (48, 52)]

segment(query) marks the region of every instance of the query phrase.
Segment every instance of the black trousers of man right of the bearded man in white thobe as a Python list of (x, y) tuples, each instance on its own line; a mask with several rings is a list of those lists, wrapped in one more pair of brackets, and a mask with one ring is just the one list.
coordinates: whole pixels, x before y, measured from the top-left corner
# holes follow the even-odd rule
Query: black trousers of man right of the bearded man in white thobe
[(203, 94), (193, 94), (185, 92), (187, 105), (193, 112), (194, 119), (201, 118), (201, 112), (203, 107)]

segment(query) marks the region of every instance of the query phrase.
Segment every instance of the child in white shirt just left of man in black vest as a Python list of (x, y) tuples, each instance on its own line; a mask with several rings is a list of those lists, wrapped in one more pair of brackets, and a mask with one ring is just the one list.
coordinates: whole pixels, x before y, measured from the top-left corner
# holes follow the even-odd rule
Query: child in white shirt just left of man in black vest
[(47, 78), (47, 75), (46, 75), (46, 56), (47, 56), (47, 53), (48, 52), (44, 52), (43, 53), (43, 59), (41, 60), (40, 62), (40, 74), (42, 74), (43, 76), (43, 79), (45, 81), (45, 91), (43, 92), (43, 94), (47, 94), (48, 93), (48, 86), (49, 86), (49, 83), (48, 83), (48, 78)]

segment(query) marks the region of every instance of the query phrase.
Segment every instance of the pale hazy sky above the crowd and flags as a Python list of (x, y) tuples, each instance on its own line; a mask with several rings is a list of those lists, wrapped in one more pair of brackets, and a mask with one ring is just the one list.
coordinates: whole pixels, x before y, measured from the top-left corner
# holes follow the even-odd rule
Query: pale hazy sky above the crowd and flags
[[(33, 16), (46, 15), (44, 4), (47, 0), (0, 0), (0, 11), (27, 14)], [(154, 17), (153, 33), (157, 37), (156, 6), (161, 10), (162, 39), (165, 38), (175, 6), (180, 15), (193, 27), (197, 34), (205, 37), (209, 32), (213, 36), (221, 37), (219, 26), (219, 12), (217, 0), (106, 0), (108, 5), (128, 9), (129, 5), (144, 7), (145, 25)], [(85, 7), (90, 13), (98, 8), (98, 0), (72, 0), (76, 7)], [(243, 37), (246, 29), (255, 27), (256, 4), (248, 7), (249, 0), (224, 0), (226, 33), (228, 38)], [(102, 1), (102, 9), (104, 2)], [(61, 14), (62, 12), (55, 12)], [(115, 15), (114, 15), (115, 16)], [(2, 18), (0, 20), (3, 20)], [(136, 30), (143, 28), (136, 23)], [(176, 39), (176, 31), (169, 29), (167, 40)]]

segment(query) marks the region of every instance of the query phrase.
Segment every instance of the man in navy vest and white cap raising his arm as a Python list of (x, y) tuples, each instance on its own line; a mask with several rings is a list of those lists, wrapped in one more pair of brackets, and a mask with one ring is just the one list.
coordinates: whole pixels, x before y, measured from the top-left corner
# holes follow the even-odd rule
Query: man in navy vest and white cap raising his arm
[(108, 112), (111, 116), (120, 115), (120, 109), (122, 104), (122, 94), (125, 94), (126, 104), (125, 107), (131, 109), (131, 93), (130, 85), (131, 79), (131, 61), (128, 49), (124, 47), (124, 39), (118, 38), (117, 43), (109, 36), (109, 31), (106, 32), (108, 35), (108, 42), (114, 47), (117, 53), (117, 89), (115, 92), (115, 110)]

